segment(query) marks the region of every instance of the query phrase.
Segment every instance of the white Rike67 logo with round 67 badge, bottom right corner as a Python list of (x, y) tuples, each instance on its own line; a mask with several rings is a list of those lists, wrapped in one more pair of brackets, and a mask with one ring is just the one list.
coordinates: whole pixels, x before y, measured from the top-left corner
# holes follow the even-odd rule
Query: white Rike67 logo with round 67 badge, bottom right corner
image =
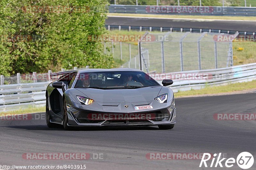
[[(220, 167), (223, 167), (222, 164), (224, 164), (226, 167), (230, 168), (232, 166), (234, 166), (235, 163), (237, 163), (237, 165), (242, 168), (242, 169), (249, 169), (250, 167), (252, 167), (253, 163), (254, 163), (254, 158), (252, 156), (251, 153), (249, 152), (242, 152), (240, 153), (237, 158), (222, 158), (220, 159), (221, 153), (219, 155), (217, 155), (216, 153), (213, 154), (213, 158), (211, 157), (212, 155), (210, 153), (204, 153), (203, 158), (201, 159), (200, 165), (199, 167), (202, 167), (202, 165), (204, 164), (204, 167), (208, 167), (206, 164), (206, 161), (212, 159), (211, 165), (209, 167), (218, 167), (218, 165)], [(206, 159), (205, 159), (206, 158)], [(215, 159), (217, 158), (216, 162)], [(227, 159), (226, 161), (224, 161), (225, 159)], [(215, 164), (214, 164), (215, 162)]]

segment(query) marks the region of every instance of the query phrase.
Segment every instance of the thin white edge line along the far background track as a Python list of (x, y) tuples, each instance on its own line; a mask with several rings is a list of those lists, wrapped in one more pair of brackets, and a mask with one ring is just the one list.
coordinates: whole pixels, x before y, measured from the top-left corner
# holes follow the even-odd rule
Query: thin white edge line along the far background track
[(107, 15), (108, 17), (117, 18), (146, 18), (146, 19), (176, 19), (176, 20), (198, 20), (198, 21), (245, 21), (245, 22), (256, 22), (256, 20), (233, 20), (233, 19), (196, 19), (196, 18), (160, 18), (160, 17), (136, 17), (136, 16), (116, 16)]

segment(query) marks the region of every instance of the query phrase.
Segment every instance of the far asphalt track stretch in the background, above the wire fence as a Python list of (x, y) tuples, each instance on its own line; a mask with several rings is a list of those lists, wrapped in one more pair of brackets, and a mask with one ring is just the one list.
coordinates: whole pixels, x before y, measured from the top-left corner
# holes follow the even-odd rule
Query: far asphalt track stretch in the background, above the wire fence
[(152, 26), (152, 27), (175, 27), (175, 28), (202, 28), (220, 29), (229, 31), (256, 32), (255, 21), (232, 21), (213, 19), (160, 19), (160, 18), (129, 18), (111, 17), (106, 19), (106, 25), (117, 26)]

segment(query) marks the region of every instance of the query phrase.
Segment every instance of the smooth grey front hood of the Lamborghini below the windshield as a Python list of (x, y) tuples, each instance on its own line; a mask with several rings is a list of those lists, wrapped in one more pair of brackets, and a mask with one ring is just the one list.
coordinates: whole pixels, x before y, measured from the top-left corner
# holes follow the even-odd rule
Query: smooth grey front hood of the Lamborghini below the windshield
[[(160, 92), (162, 86), (143, 87), (137, 89), (92, 89), (77, 88), (88, 98), (103, 103), (121, 103), (121, 102), (142, 102), (154, 100)], [(86, 97), (84, 96), (84, 97)]]

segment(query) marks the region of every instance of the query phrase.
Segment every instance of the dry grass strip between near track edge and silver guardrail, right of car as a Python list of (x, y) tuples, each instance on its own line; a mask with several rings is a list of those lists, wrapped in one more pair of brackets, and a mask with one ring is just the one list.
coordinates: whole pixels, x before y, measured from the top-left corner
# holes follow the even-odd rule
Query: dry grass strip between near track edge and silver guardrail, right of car
[(234, 83), (234, 84), (223, 85), (223, 86), (206, 86), (204, 89), (201, 89), (201, 90), (176, 92), (174, 93), (174, 96), (187, 97), (187, 96), (203, 95), (203, 94), (221, 94), (225, 92), (238, 92), (238, 91), (252, 90), (252, 89), (256, 89), (256, 80), (253, 80), (251, 82)]

